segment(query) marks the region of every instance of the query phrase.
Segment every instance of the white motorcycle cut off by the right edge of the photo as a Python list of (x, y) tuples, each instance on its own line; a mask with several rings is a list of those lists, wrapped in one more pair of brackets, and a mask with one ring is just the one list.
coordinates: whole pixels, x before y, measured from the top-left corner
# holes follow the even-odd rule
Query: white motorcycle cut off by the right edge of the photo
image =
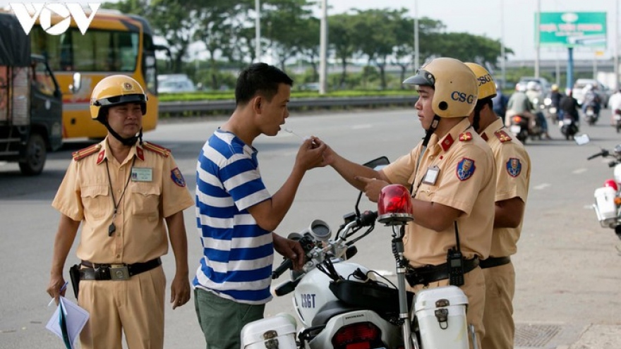
[[(578, 145), (589, 143), (588, 135), (576, 136)], [(591, 155), (587, 159), (597, 157), (610, 158), (608, 167), (613, 168), (613, 178), (605, 180), (601, 188), (593, 193), (595, 203), (593, 209), (602, 228), (614, 229), (621, 239), (621, 144), (616, 145), (613, 151), (601, 148), (601, 152)]]

